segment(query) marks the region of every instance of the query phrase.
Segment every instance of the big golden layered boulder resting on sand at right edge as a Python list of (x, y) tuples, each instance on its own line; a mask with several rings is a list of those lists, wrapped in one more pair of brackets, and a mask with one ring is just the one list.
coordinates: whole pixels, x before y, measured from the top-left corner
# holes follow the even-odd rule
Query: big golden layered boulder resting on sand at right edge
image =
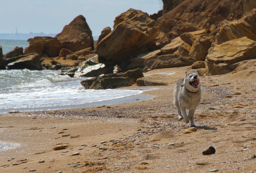
[(205, 61), (209, 75), (220, 75), (232, 71), (236, 62), (255, 58), (256, 41), (242, 37), (213, 47)]

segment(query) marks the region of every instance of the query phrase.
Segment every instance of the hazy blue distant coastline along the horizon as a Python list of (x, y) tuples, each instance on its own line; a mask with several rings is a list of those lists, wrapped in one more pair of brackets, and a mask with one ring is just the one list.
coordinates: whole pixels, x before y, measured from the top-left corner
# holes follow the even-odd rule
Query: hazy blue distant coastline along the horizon
[[(40, 33), (0, 33), (0, 39), (3, 40), (28, 40), (29, 38), (34, 38), (35, 36), (51, 36), (55, 37), (57, 34), (45, 34)], [(98, 40), (99, 36), (93, 36), (93, 40)]]

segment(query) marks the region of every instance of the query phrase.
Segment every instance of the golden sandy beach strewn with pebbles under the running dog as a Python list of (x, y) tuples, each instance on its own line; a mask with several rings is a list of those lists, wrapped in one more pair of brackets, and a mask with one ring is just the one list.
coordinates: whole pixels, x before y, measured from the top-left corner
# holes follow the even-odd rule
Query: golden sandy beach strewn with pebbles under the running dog
[[(197, 131), (189, 134), (182, 133), (190, 123), (178, 121), (172, 100), (174, 84), (192, 71), (188, 67), (145, 73), (169, 84), (145, 91), (152, 96), (147, 101), (2, 114), (1, 142), (19, 146), (0, 151), (0, 172), (256, 172), (252, 64), (201, 77)], [(168, 72), (175, 74), (154, 75)], [(68, 146), (53, 150), (57, 144)], [(216, 153), (203, 155), (209, 146)]]

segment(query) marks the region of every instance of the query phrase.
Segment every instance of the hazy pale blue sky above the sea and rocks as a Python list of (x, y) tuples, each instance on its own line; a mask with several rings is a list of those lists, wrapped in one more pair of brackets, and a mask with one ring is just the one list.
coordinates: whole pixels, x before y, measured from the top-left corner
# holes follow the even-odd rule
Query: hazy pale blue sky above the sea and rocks
[(82, 14), (96, 36), (129, 8), (153, 14), (162, 0), (0, 0), (0, 7), (0, 33), (60, 33)]

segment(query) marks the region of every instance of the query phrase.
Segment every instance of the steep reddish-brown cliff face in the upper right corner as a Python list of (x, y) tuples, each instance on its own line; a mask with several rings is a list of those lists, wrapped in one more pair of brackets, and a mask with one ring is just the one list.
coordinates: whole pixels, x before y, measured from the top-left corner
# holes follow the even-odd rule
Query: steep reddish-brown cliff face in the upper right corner
[[(164, 40), (172, 40), (184, 32), (196, 31), (202, 28), (218, 32), (224, 20), (237, 20), (255, 8), (254, 0), (184, 0), (173, 8), (174, 1), (164, 2), (164, 14), (157, 19), (160, 31), (165, 33)], [(168, 12), (169, 11), (169, 12)]]

